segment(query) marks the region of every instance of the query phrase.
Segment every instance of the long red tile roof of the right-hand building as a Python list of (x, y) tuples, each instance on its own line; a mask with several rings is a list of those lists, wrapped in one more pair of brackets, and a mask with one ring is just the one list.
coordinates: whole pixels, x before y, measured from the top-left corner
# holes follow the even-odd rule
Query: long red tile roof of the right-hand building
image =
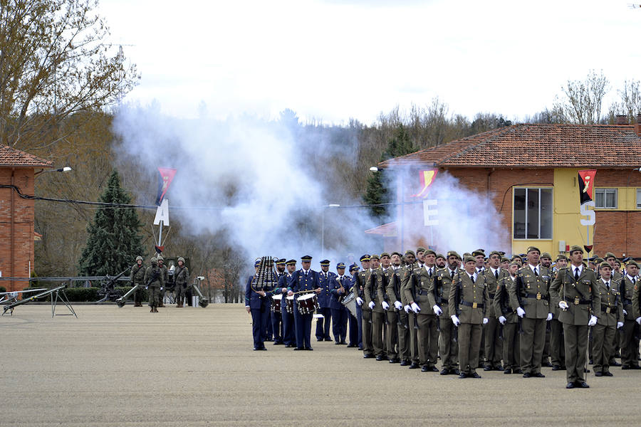
[(641, 167), (633, 125), (512, 125), (389, 159), (435, 167)]

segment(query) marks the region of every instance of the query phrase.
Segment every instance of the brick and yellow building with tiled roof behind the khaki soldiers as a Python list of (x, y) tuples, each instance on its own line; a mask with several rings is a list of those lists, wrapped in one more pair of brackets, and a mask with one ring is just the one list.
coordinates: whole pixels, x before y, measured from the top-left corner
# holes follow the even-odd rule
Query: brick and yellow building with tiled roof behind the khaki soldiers
[[(434, 183), (449, 174), (494, 205), (506, 251), (523, 253), (533, 245), (556, 254), (589, 239), (593, 253), (640, 258), (640, 122), (641, 115), (633, 125), (625, 116), (617, 117), (617, 125), (512, 125), (381, 162), (380, 168), (410, 178), (397, 180), (397, 221), (368, 233), (384, 236), (387, 251), (430, 246), (427, 236), (439, 227), (423, 225), (424, 206), (412, 195), (420, 171), (438, 169)], [(580, 225), (587, 218), (580, 214), (581, 169), (597, 170), (596, 222), (589, 227)]]

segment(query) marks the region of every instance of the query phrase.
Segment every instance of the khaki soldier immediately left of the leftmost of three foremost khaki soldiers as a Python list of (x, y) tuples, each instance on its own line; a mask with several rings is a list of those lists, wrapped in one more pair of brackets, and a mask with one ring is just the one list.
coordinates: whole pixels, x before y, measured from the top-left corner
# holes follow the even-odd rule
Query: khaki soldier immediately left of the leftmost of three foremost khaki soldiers
[(452, 288), (452, 278), (459, 273), (458, 260), (461, 259), (456, 251), (447, 253), (446, 268), (437, 270), (432, 288), (429, 288), (427, 297), (429, 304), (432, 305), (434, 313), (441, 312), (439, 315), (440, 333), (439, 333), (439, 354), (443, 369), (441, 375), (456, 374), (459, 375), (459, 344), (454, 340), (454, 323), (451, 315), (455, 314), (449, 310), (449, 292)]

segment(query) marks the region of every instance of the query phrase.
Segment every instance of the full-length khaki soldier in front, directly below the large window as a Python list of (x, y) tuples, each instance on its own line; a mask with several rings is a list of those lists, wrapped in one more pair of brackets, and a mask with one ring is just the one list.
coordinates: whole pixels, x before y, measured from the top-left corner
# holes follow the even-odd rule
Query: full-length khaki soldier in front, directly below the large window
[(510, 288), (510, 305), (521, 317), (521, 370), (523, 378), (538, 377), (541, 374), (543, 346), (546, 342), (546, 321), (552, 320), (550, 312), (550, 271), (538, 265), (541, 251), (530, 246), (528, 262), (516, 275), (516, 282)]

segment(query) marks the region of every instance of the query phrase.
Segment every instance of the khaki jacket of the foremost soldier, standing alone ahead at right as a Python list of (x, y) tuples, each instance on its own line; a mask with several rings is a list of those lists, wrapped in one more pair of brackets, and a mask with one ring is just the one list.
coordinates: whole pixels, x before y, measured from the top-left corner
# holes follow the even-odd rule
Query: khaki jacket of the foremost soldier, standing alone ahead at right
[(571, 267), (558, 270), (550, 286), (550, 294), (552, 304), (557, 307), (561, 300), (568, 302), (568, 310), (561, 310), (558, 314), (558, 320), (568, 325), (588, 325), (593, 309), (601, 305), (596, 275), (585, 265), (578, 281), (574, 280)]

